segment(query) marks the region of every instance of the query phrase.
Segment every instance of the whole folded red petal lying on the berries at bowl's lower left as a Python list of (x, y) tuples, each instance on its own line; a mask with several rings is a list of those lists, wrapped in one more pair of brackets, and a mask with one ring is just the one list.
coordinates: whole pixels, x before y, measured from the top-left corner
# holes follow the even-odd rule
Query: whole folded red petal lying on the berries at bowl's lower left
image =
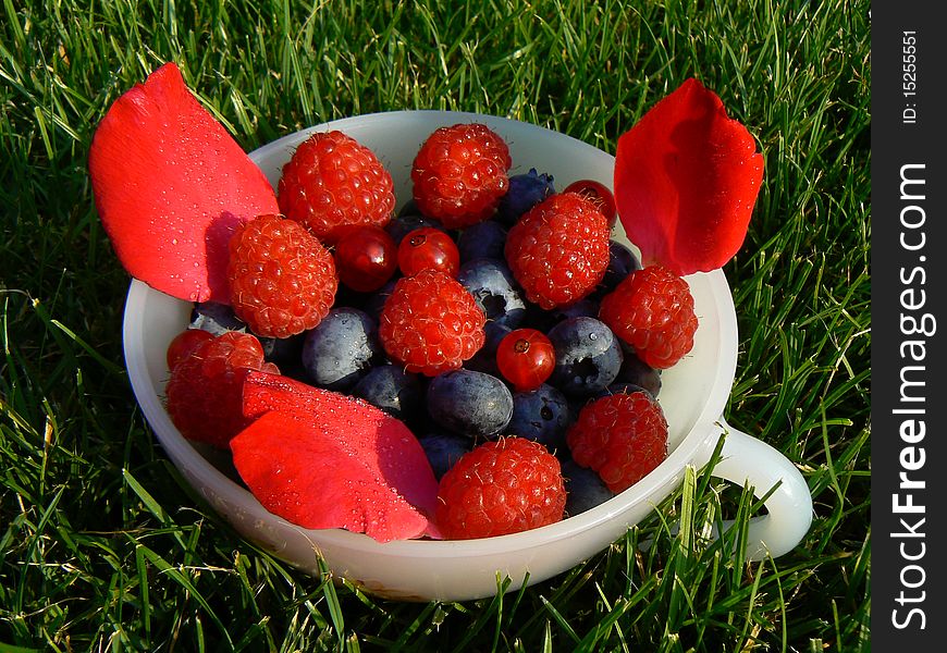
[(247, 375), (244, 415), (257, 420), (231, 441), (234, 465), (271, 513), (382, 542), (440, 537), (426, 517), (434, 514), (438, 481), (399, 420), (354, 397), (265, 372)]

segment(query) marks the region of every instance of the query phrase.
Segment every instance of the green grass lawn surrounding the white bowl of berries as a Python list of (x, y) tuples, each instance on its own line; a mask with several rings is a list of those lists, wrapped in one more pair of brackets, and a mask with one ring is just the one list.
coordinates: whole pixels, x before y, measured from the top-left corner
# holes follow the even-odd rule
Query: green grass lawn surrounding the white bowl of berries
[[(869, 3), (469, 4), (0, 5), (0, 652), (868, 648)], [(110, 102), (169, 60), (248, 150), (434, 108), (614, 152), (687, 77), (715, 89), (766, 159), (725, 268), (740, 326), (727, 417), (802, 470), (805, 540), (759, 564), (723, 555), (703, 526), (736, 518), (738, 539), (757, 502), (698, 472), (607, 551), (495, 600), (383, 601), (242, 541), (137, 410), (120, 336), (128, 279), (86, 169)]]

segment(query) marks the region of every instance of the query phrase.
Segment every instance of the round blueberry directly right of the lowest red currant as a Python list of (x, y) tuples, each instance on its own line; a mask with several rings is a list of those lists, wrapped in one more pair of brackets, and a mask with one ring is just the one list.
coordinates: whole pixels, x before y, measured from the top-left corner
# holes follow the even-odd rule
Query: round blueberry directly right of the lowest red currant
[(618, 338), (604, 322), (578, 317), (563, 320), (549, 331), (556, 366), (549, 383), (574, 396), (592, 396), (611, 384), (624, 356)]

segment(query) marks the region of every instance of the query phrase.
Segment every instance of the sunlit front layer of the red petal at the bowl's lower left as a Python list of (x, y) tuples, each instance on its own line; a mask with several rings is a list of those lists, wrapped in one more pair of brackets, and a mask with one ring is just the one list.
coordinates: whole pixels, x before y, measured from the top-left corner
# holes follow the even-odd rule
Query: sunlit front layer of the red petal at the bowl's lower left
[(379, 542), (422, 534), (427, 518), (340, 435), (329, 420), (274, 410), (241, 431), (231, 451), (260, 504), (303, 528), (344, 528)]

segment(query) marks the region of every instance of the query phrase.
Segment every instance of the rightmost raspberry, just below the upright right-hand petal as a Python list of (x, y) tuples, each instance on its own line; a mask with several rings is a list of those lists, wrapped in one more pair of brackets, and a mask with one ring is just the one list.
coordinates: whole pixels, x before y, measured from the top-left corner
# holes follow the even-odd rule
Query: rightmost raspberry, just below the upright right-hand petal
[(652, 368), (669, 368), (693, 348), (693, 296), (687, 282), (663, 266), (628, 275), (602, 298), (599, 317)]

